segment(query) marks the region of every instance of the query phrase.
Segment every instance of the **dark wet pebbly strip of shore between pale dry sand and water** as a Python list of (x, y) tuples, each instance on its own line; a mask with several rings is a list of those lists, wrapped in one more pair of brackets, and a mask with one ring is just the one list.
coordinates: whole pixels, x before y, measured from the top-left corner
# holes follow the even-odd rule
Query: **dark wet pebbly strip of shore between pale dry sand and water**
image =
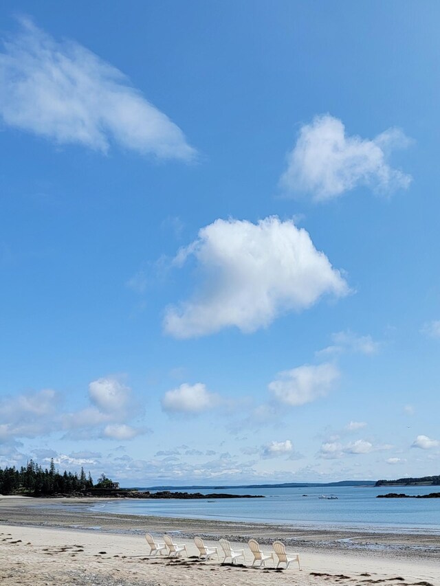
[(262, 545), (275, 539), (286, 545), (304, 550), (333, 551), (341, 554), (393, 554), (401, 559), (426, 561), (440, 559), (440, 536), (429, 530), (386, 530), (366, 528), (309, 528), (288, 523), (260, 523), (247, 521), (219, 521), (161, 517), (155, 515), (126, 515), (102, 510), (89, 510), (89, 506), (111, 502), (111, 499), (36, 499), (0, 497), (0, 523), (10, 526), (28, 526), (101, 532), (107, 534), (142, 535), (146, 530), (153, 534), (170, 532), (192, 539), (225, 537), (237, 543), (246, 543), (251, 537)]

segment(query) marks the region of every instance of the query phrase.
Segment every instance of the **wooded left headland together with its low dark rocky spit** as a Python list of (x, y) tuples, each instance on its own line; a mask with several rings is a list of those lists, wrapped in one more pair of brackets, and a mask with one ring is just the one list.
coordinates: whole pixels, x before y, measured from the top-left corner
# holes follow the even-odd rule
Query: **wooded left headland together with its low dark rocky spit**
[(26, 497), (111, 497), (126, 499), (256, 499), (262, 495), (228, 495), (224, 493), (183, 493), (171, 491), (139, 491), (135, 488), (120, 488), (102, 474), (94, 484), (90, 473), (86, 475), (83, 468), (80, 473), (61, 474), (56, 470), (54, 460), (50, 467), (44, 469), (33, 460), (21, 469), (0, 468), (0, 496), (22, 495)]

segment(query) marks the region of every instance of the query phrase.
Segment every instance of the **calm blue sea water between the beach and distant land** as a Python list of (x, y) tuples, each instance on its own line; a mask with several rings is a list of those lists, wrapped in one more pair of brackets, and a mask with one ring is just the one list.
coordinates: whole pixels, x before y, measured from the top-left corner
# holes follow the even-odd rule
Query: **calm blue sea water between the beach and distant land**
[[(325, 495), (338, 499), (319, 499), (322, 488), (257, 488), (225, 491), (186, 492), (264, 495), (264, 499), (200, 500), (116, 500), (99, 504), (92, 510), (126, 515), (155, 515), (221, 521), (285, 523), (298, 528), (351, 528), (380, 531), (417, 530), (439, 532), (440, 499), (377, 499), (379, 494), (423, 495), (438, 492), (436, 486), (417, 487), (338, 487), (325, 488)], [(307, 496), (303, 496), (307, 495)]]

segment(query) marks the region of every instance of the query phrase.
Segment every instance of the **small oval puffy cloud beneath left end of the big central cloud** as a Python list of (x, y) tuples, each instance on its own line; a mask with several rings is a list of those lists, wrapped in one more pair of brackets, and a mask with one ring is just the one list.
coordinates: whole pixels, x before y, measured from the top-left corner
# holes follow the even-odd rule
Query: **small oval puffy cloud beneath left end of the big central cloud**
[(210, 393), (206, 385), (184, 383), (167, 391), (162, 398), (162, 409), (168, 413), (201, 413), (213, 409), (219, 404), (219, 396)]

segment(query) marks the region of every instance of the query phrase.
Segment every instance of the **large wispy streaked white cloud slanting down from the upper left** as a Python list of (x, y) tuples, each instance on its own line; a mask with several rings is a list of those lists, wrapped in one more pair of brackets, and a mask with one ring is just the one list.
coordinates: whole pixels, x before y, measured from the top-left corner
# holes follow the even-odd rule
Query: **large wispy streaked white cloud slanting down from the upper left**
[(0, 54), (0, 115), (8, 126), (107, 152), (112, 142), (160, 158), (195, 150), (169, 118), (115, 67), (72, 41), (58, 43), (29, 19)]

